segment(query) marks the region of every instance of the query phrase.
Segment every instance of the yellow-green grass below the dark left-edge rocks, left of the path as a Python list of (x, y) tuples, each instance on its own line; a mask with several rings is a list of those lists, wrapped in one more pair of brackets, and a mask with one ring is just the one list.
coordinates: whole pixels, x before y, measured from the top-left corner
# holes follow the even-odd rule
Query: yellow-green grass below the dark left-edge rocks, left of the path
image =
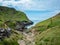
[(22, 40), (23, 35), (19, 31), (12, 30), (12, 34), (9, 38), (5, 37), (0, 41), (0, 45), (19, 45), (18, 40)]

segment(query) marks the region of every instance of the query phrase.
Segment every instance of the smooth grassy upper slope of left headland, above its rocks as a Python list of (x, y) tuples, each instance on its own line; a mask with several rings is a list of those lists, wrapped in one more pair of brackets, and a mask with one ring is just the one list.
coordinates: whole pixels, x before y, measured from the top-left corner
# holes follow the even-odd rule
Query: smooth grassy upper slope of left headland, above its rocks
[(26, 14), (21, 11), (16, 11), (14, 8), (8, 8), (0, 6), (0, 20), (6, 21), (6, 20), (28, 20), (26, 17)]

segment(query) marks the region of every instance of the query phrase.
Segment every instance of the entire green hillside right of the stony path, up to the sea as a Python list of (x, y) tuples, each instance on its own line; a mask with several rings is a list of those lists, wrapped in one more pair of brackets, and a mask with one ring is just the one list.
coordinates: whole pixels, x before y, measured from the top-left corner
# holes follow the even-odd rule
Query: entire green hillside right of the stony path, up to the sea
[(36, 45), (60, 45), (60, 13), (36, 24)]

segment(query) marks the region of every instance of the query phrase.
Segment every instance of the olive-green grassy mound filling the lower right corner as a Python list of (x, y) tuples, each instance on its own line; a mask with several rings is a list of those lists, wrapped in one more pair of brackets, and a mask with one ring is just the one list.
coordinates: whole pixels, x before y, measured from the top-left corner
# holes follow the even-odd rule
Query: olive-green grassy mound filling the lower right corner
[(36, 45), (60, 45), (60, 27), (43, 31), (36, 36)]

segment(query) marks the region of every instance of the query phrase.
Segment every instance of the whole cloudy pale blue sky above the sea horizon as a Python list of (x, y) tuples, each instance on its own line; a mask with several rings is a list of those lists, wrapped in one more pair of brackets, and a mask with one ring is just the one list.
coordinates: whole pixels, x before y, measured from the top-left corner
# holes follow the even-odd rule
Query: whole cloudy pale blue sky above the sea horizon
[(0, 0), (0, 5), (17, 10), (60, 10), (60, 0)]

